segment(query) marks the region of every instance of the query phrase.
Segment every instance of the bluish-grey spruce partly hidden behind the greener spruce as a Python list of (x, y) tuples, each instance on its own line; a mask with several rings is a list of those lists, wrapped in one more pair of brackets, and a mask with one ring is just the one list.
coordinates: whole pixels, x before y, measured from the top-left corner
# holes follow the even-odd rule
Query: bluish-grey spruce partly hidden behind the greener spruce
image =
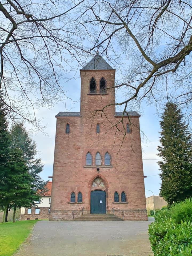
[(35, 158), (37, 154), (36, 143), (27, 133), (21, 122), (11, 127), (11, 149), (20, 149), (23, 159), (25, 160), (29, 173), (34, 179), (34, 185), (37, 191), (41, 191), (42, 195), (46, 192), (45, 185), (47, 181), (43, 181), (39, 173), (43, 170), (41, 158)]

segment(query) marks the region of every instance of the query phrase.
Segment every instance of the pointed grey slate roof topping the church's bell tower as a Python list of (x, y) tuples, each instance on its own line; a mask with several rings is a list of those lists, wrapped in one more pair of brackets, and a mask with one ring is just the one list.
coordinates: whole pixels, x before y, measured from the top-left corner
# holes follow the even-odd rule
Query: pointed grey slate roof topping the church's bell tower
[(98, 53), (87, 63), (82, 70), (114, 70)]

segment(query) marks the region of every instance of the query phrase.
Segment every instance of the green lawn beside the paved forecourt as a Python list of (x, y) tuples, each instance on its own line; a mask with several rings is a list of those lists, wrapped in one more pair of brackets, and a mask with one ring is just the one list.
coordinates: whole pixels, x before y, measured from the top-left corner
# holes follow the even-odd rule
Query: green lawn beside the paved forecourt
[(0, 223), (0, 255), (11, 256), (28, 237), (35, 221)]

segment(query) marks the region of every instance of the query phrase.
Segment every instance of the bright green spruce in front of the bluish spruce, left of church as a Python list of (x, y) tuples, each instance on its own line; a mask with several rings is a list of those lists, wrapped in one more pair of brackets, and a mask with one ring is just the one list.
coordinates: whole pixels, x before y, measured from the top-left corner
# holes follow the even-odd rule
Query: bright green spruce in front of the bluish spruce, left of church
[(17, 208), (35, 206), (35, 201), (41, 197), (34, 186), (34, 178), (22, 157), (20, 149), (9, 152), (9, 162), (6, 166), (6, 177), (3, 180), (1, 196), (14, 208), (13, 222)]

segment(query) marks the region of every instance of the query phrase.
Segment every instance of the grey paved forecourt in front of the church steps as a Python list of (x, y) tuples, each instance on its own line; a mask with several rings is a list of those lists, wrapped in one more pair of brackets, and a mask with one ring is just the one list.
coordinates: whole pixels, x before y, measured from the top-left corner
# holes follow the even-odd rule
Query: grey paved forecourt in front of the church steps
[(17, 256), (152, 256), (151, 221), (39, 221)]

